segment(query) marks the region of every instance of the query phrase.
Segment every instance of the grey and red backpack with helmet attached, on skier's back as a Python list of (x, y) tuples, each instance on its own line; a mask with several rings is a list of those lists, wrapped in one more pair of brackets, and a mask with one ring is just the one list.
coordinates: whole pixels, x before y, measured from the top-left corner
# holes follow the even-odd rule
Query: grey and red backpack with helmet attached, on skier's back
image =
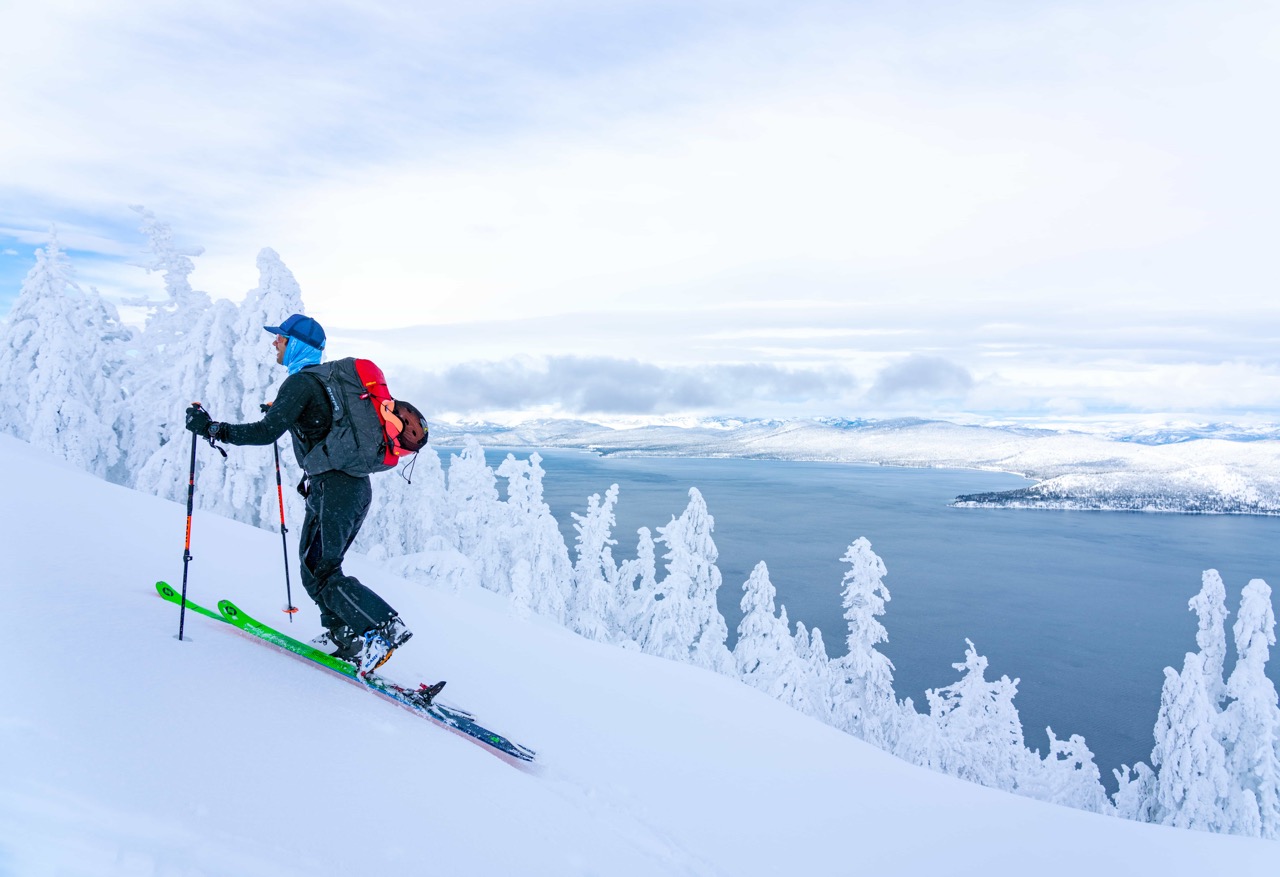
[[(302, 370), (316, 378), (333, 406), (333, 426), (305, 455), (293, 446), (308, 475), (342, 470), (364, 476), (394, 469), (401, 457), (426, 444), (426, 424), (387, 388), (383, 370), (369, 360), (347, 357)], [(421, 435), (419, 435), (419, 431)]]

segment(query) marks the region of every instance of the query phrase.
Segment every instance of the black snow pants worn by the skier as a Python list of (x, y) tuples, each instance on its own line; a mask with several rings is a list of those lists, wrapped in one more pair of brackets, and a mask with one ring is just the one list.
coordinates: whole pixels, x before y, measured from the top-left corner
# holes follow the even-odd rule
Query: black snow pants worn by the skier
[(320, 624), (325, 627), (346, 624), (356, 634), (364, 634), (396, 616), (396, 609), (381, 597), (342, 571), (342, 559), (365, 522), (372, 497), (369, 478), (338, 471), (311, 478), (298, 553), (302, 586), (320, 607)]

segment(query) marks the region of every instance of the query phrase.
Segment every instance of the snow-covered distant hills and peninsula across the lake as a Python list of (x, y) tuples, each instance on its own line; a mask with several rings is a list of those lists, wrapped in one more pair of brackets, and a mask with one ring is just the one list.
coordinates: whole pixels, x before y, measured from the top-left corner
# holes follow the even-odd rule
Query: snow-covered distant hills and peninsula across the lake
[(956, 498), (960, 506), (1280, 515), (1280, 426), (1190, 424), (1093, 431), (941, 420), (704, 419), (639, 425), (534, 420), (433, 424), (495, 447), (602, 455), (739, 457), (979, 469), (1034, 485)]

